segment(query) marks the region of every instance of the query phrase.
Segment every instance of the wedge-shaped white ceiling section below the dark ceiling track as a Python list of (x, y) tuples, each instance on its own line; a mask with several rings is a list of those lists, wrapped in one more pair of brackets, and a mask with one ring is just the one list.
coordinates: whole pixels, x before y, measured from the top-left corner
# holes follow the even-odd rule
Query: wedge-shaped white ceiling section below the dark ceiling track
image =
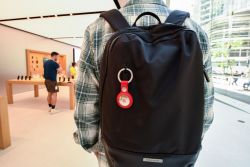
[[(3, 22), (11, 27), (16, 27), (28, 32), (33, 32), (49, 38), (57, 38), (63, 42), (80, 46), (82, 39), (67, 39), (66, 37), (82, 37), (87, 25), (99, 15), (68, 16), (42, 18), (32, 20), (18, 20)], [(63, 39), (65, 37), (65, 39)], [(61, 38), (61, 39), (60, 39)]]

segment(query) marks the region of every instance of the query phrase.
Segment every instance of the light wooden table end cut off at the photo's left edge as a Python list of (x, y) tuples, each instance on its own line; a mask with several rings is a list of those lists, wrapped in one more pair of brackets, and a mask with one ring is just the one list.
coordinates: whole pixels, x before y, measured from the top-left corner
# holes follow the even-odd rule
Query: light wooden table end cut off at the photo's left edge
[(0, 96), (0, 149), (11, 145), (9, 116), (6, 98)]

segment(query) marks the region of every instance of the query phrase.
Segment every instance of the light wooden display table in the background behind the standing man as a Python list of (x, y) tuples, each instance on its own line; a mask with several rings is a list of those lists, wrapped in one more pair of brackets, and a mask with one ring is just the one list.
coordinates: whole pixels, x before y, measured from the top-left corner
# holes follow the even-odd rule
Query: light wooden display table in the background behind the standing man
[[(6, 92), (7, 92), (7, 98), (8, 103), (13, 104), (13, 90), (12, 86), (14, 84), (18, 85), (33, 85), (34, 86), (34, 97), (39, 96), (39, 85), (45, 85), (44, 80), (17, 80), (12, 79), (8, 80), (6, 82)], [(74, 83), (68, 83), (68, 82), (60, 82), (58, 83), (58, 86), (68, 86), (69, 87), (69, 108), (70, 110), (73, 110), (75, 108), (75, 84)]]

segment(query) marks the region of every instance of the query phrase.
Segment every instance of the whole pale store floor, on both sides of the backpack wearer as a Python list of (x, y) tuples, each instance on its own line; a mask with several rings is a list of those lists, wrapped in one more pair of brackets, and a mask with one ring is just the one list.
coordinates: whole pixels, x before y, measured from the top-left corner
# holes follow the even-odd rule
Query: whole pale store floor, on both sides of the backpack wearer
[[(32, 95), (16, 95), (15, 103), (9, 105), (12, 146), (0, 151), (0, 166), (97, 167), (94, 155), (83, 151), (72, 139), (75, 125), (73, 112), (67, 110), (67, 89), (59, 94), (61, 112), (54, 115), (47, 112), (45, 90), (39, 98)], [(220, 102), (214, 108), (214, 124), (205, 136), (196, 166), (248, 167), (250, 114)]]

